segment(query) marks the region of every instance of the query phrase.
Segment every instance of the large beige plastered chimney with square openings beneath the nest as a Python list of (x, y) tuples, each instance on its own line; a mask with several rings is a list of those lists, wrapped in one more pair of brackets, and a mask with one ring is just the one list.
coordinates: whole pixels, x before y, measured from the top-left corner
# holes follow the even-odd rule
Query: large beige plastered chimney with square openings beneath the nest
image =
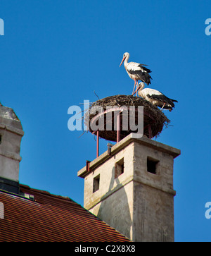
[(174, 241), (173, 165), (180, 150), (135, 133), (78, 171), (84, 207), (132, 241)]

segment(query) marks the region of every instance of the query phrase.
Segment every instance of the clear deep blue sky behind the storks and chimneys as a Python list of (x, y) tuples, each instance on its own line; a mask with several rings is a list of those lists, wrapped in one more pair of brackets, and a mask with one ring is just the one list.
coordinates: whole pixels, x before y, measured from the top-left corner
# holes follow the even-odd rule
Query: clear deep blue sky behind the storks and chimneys
[[(175, 240), (211, 241), (210, 1), (1, 0), (0, 102), (25, 130), (20, 183), (83, 205), (77, 177), (96, 157), (90, 133), (68, 130), (68, 108), (84, 99), (129, 95), (124, 66), (147, 63), (151, 87), (178, 100), (159, 142), (181, 150), (174, 161)], [(100, 140), (100, 153), (107, 142)]]

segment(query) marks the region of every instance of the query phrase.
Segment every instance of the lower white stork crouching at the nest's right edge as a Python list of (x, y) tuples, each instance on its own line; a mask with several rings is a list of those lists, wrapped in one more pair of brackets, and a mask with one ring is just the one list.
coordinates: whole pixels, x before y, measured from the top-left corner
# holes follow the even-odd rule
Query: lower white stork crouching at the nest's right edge
[(151, 102), (155, 106), (159, 106), (161, 108), (160, 110), (168, 109), (169, 111), (172, 111), (172, 108), (174, 108), (174, 102), (177, 102), (177, 100), (166, 97), (158, 90), (151, 88), (143, 89), (143, 87), (144, 83), (139, 83), (139, 87), (136, 89), (136, 91), (138, 90), (138, 95), (140, 97), (148, 100), (148, 102)]

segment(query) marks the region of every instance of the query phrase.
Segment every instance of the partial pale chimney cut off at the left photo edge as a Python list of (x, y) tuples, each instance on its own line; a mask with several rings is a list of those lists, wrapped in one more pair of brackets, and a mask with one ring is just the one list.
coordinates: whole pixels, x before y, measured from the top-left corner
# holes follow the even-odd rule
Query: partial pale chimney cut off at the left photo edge
[(22, 125), (13, 109), (0, 104), (0, 189), (19, 193)]

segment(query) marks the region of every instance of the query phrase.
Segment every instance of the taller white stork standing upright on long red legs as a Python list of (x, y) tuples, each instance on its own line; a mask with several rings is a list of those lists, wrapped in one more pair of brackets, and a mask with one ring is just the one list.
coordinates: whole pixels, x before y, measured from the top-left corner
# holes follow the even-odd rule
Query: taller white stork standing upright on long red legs
[[(147, 85), (151, 84), (151, 79), (153, 79), (151, 78), (151, 75), (149, 75), (149, 73), (151, 73), (151, 70), (144, 67), (148, 65), (140, 64), (136, 62), (128, 63), (127, 62), (128, 59), (129, 59), (129, 53), (125, 52), (123, 54), (122, 62), (124, 61), (124, 68), (126, 69), (127, 74), (132, 80), (134, 80), (134, 90), (135, 90), (135, 87), (137, 89), (139, 80), (146, 83)], [(122, 62), (120, 63), (120, 66), (122, 65)], [(134, 93), (134, 90), (132, 94)]]

